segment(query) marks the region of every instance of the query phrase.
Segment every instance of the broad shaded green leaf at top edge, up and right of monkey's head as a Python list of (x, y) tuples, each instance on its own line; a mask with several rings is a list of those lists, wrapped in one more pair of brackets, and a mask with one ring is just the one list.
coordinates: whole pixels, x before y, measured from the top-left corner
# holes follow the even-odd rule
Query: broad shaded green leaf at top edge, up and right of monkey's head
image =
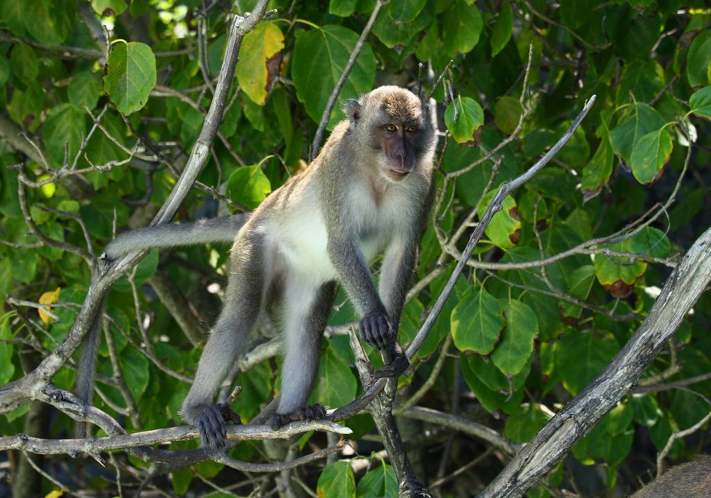
[(476, 4), (457, 0), (444, 12), (442, 26), (445, 26), (442, 48), (447, 57), (454, 58), (458, 53), (468, 53), (479, 43), (483, 19)]

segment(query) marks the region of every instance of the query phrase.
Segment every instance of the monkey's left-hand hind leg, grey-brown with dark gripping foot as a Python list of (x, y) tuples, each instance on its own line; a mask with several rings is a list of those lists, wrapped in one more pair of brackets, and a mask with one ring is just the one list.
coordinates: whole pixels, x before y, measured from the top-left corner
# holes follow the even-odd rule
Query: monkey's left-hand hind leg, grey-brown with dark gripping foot
[(198, 363), (198, 372), (183, 402), (183, 419), (198, 426), (205, 445), (225, 448), (227, 421), (239, 423), (239, 417), (225, 404), (213, 404), (220, 384), (245, 352), (255, 329), (268, 281), (267, 248), (262, 238), (247, 233), (240, 237), (232, 252), (225, 301), (215, 327)]

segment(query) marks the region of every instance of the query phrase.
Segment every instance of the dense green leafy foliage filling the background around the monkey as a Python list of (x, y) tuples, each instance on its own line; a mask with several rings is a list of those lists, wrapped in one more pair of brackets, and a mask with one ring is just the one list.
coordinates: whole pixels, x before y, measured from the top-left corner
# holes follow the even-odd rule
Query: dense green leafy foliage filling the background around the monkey
[[(220, 136), (198, 178), (215, 190), (193, 189), (181, 220), (216, 215), (225, 205), (232, 211), (252, 209), (306, 166), (328, 97), (376, 6), (375, 0), (272, 3), (279, 9), (277, 18), (260, 23), (242, 42)], [(210, 4), (206, 12), (204, 4)], [(249, 11), (254, 2), (241, 4)], [(24, 189), (29, 215), (47, 237), (85, 247), (80, 218), (100, 252), (115, 227), (143, 223), (164, 202), (176, 178), (173, 165), (184, 163), (198, 138), (223, 58), (228, 24), (222, 5), (198, 0), (93, 0), (91, 9), (77, 0), (1, 4), (0, 144), (10, 146), (0, 149), (0, 162), (24, 163), (23, 171), (36, 182), (53, 179), (63, 168), (87, 169)], [(97, 45), (87, 17), (101, 18), (112, 29), (106, 51)], [(451, 254), (466, 239), (452, 242), (451, 237), (469, 222), (470, 212), (481, 216), (498, 185), (537, 160), (570, 126), (584, 99), (592, 94), (598, 99), (553, 163), (507, 197), (476, 249), (474, 269), (457, 284), (417, 353), (412, 374), (401, 379), (402, 391), (410, 392), (409, 386), (419, 386), (432, 372), (434, 361), (424, 360), (451, 353), (445, 340), (451, 334), (459, 355), (445, 360), (442, 372), (448, 373), (422, 403), (459, 406), (451, 401), (449, 386), (452, 375), (461, 376), (474, 405), (496, 415), (482, 421), (525, 443), (631, 337), (651, 307), (654, 286), (661, 286), (667, 274), (658, 263), (688, 247), (711, 220), (711, 176), (704, 168), (711, 146), (705, 121), (711, 119), (710, 22), (711, 11), (702, 1), (390, 0), (382, 7), (327, 129), (341, 119), (345, 99), (376, 82), (411, 84), (418, 60), (438, 74), (454, 58), (456, 97), (450, 99), (442, 87), (434, 94), (447, 103), (441, 119), (447, 138), (440, 141), (437, 182), (442, 189), (422, 241), (417, 281), (442, 264), (451, 267)], [(530, 48), (524, 108), (519, 96)], [(94, 126), (92, 117), (104, 109), (101, 126)], [(523, 128), (513, 141), (466, 170), (516, 131), (524, 112)], [(38, 144), (48, 164), (12, 150), (19, 131)], [(683, 171), (693, 174), (683, 176)], [(37, 239), (27, 237), (18, 175), (6, 167), (0, 175), (0, 238), (11, 243), (0, 246), (0, 294), (56, 303), (51, 308), (56, 318), (6, 305), (0, 320), (1, 385), (23, 374), (21, 344), (42, 354), (65, 337), (91, 275), (77, 254), (22, 245)], [(77, 178), (78, 183), (69, 181)], [(665, 216), (634, 237), (584, 245), (623, 229), (673, 194), (676, 202)], [(191, 376), (201, 352), (150, 291), (152, 279), (156, 272), (169, 275), (173, 286), (198, 303), (198, 318), (210, 322), (218, 303), (205, 288), (221, 281), (226, 256), (219, 247), (161, 256), (154, 251), (130, 281), (123, 278), (112, 288), (105, 313), (113, 341), (109, 345), (102, 338), (95, 403), (122, 418), (129, 430), (181, 423), (178, 407), (188, 384), (180, 378)], [(548, 264), (540, 262), (549, 258)], [(401, 342), (414, 337), (448, 274), (407, 304)], [(139, 289), (136, 296), (133, 288)], [(709, 324), (709, 300), (702, 296), (649, 375), (668, 371), (670, 364), (671, 379), (711, 369), (709, 336), (702, 333)], [(356, 318), (343, 305), (329, 323)], [(148, 344), (141, 335), (146, 324)], [(109, 347), (117, 352), (118, 364), (109, 361)], [(375, 355), (373, 361), (378, 362)], [(352, 364), (346, 337), (324, 338), (314, 401), (333, 407), (351, 401), (360, 390)], [(267, 360), (240, 374), (243, 390), (234, 408), (243, 419), (255, 416), (278, 389), (273, 367)], [(114, 368), (124, 377), (130, 399), (109, 382)], [(74, 369), (67, 365), (53, 381), (71, 389), (73, 379)], [(705, 381), (685, 390), (627, 397), (574, 448), (574, 458), (605, 465), (605, 485), (612, 489), (620, 467), (629, 464), (635, 434), (651, 438), (661, 450), (670, 434), (708, 413), (704, 396), (710, 389)], [(139, 417), (130, 411), (131, 403)], [(3, 433), (22, 432), (27, 411), (24, 405), (0, 416)], [(127, 414), (132, 416), (123, 417)], [(347, 424), (355, 438), (373, 428), (366, 416)], [(70, 425), (58, 418), (45, 436), (66, 434)], [(173, 443), (171, 448), (194, 445)], [(255, 460), (260, 458), (256, 450), (245, 443), (234, 455)], [(678, 440), (670, 454), (683, 457), (690, 451)], [(221, 468), (205, 462), (195, 470), (212, 479)], [(434, 475), (420, 477), (427, 483)], [(557, 467), (550, 485), (560, 485), (563, 478)], [(173, 472), (173, 489), (183, 494), (192, 480), (191, 470)], [(326, 467), (318, 480), (319, 496), (328, 497), (383, 496), (396, 488), (387, 465), (368, 472), (357, 486), (347, 462)], [(530, 493), (548, 495), (542, 487)]]

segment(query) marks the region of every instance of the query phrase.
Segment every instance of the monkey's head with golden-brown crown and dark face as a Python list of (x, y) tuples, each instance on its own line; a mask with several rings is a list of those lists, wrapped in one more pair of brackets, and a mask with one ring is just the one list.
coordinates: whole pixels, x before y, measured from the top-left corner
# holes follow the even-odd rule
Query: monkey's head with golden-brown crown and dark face
[(417, 95), (395, 86), (378, 87), (345, 107), (350, 133), (388, 180), (398, 182), (434, 153), (434, 110)]

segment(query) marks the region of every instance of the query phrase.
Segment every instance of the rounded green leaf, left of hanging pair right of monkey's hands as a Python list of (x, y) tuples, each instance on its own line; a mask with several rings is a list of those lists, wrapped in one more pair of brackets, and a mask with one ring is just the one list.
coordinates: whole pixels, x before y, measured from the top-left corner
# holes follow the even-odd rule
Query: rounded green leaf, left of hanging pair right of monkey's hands
[(483, 288), (469, 288), (451, 312), (451, 335), (460, 351), (489, 354), (503, 325), (501, 305)]

